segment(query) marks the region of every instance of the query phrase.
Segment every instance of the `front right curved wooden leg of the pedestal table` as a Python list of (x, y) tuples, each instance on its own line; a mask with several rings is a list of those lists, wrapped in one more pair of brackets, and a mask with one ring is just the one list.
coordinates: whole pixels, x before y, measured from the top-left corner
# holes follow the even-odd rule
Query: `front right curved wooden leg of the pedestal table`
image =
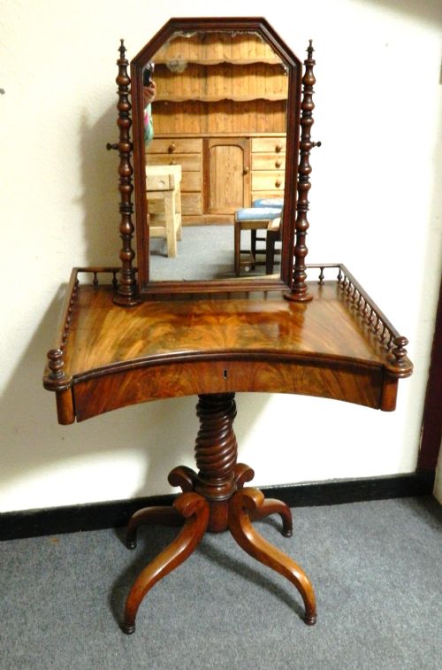
[(264, 566), (276, 570), (293, 583), (304, 601), (304, 621), (311, 626), (316, 623), (316, 599), (309, 578), (292, 558), (264, 540), (252, 527), (250, 513), (253, 515), (259, 511), (263, 501), (263, 493), (258, 489), (237, 491), (229, 504), (230, 532), (240, 547), (250, 556), (259, 560)]

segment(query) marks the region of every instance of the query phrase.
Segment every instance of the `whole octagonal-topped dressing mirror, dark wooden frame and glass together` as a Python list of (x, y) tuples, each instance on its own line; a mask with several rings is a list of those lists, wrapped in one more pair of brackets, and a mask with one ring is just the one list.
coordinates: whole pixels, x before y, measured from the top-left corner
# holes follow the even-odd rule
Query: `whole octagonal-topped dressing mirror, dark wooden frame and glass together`
[(301, 71), (260, 18), (170, 19), (133, 58), (141, 293), (292, 285)]

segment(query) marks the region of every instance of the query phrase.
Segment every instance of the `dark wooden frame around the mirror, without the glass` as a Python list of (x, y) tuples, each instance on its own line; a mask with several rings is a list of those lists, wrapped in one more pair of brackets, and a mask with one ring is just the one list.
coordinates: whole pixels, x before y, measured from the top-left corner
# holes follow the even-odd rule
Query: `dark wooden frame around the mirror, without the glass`
[[(286, 187), (282, 220), (281, 270), (279, 278), (232, 278), (225, 280), (151, 281), (149, 279), (149, 230), (146, 199), (146, 158), (144, 150), (144, 110), (142, 71), (156, 52), (177, 32), (255, 32), (261, 35), (286, 65), (288, 73), (286, 112)], [(133, 181), (135, 189), (136, 265), (141, 296), (175, 293), (226, 293), (234, 291), (286, 290), (293, 283), (294, 223), (300, 149), (302, 64), (263, 18), (184, 18), (170, 19), (131, 61), (133, 112)], [(232, 235), (233, 237), (233, 235)], [(232, 258), (233, 264), (233, 258)]]

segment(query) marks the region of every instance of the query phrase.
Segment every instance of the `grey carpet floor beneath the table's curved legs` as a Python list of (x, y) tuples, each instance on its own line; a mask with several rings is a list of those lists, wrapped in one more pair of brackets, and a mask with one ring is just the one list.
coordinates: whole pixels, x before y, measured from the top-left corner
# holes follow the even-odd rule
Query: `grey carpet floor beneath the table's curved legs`
[(432, 498), (293, 509), (259, 532), (304, 567), (318, 621), (301, 598), (248, 557), (229, 533), (199, 549), (149, 592), (126, 636), (118, 618), (141, 568), (177, 530), (143, 528), (135, 551), (121, 529), (0, 544), (0, 667), (441, 667), (441, 508)]

